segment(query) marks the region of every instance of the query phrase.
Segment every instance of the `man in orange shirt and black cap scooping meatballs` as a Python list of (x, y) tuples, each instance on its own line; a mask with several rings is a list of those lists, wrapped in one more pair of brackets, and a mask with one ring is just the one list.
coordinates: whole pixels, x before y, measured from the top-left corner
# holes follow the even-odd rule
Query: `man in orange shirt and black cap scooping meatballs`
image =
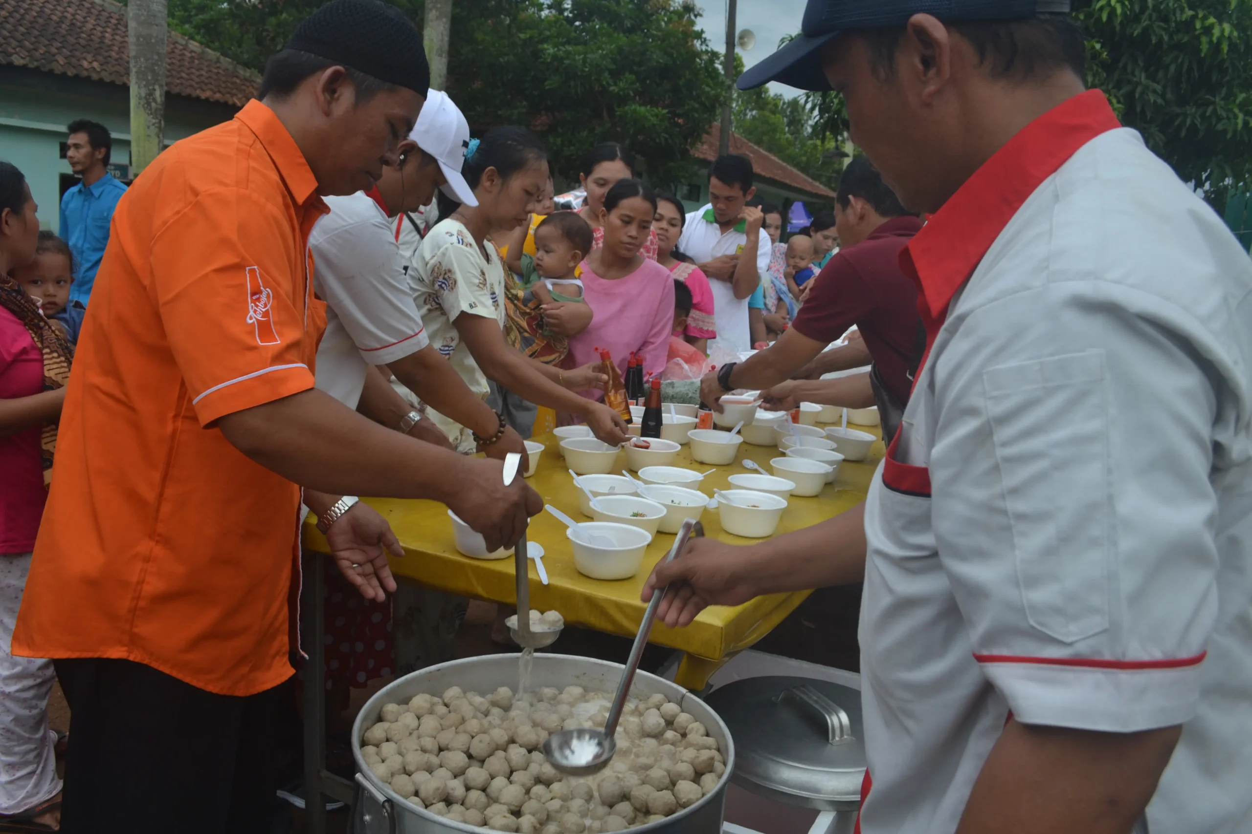
[(64, 831), (267, 830), (302, 486), (376, 599), (398, 544), (346, 493), (437, 498), (492, 549), (541, 509), (500, 461), (313, 386), (322, 195), (396, 164), (428, 83), (398, 10), (334, 0), (270, 60), (259, 101), (167, 150), (118, 206), (13, 641), (55, 659), (73, 713)]

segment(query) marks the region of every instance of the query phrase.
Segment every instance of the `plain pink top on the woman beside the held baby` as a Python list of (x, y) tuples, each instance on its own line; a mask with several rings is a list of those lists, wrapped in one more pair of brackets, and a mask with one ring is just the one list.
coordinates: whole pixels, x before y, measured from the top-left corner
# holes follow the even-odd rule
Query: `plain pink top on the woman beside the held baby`
[[(600, 361), (596, 348), (607, 348), (617, 369), (626, 373), (631, 351), (644, 358), (644, 374), (657, 379), (665, 370), (674, 329), (674, 280), (670, 270), (644, 259), (634, 273), (607, 281), (582, 261), (582, 296), (591, 305), (591, 325), (570, 339), (575, 366)], [(598, 399), (601, 391), (583, 391)]]

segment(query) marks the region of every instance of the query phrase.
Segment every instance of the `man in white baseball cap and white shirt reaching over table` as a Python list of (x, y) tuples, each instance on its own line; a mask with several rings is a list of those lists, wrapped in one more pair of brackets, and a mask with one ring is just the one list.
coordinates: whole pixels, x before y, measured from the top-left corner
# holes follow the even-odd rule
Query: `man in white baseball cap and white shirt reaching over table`
[[(372, 368), (386, 366), (422, 401), (483, 439), (483, 451), (503, 458), (526, 453), (516, 431), (503, 425), (481, 398), (427, 344), (397, 245), (394, 220), (428, 204), (436, 188), (476, 205), (461, 176), (470, 125), (446, 93), (431, 90), (417, 124), (401, 145), (398, 168), (384, 168), (372, 191), (327, 198), (331, 214), (309, 236), (317, 264), (314, 288), (327, 303), (326, 336), (318, 346), (317, 386), (357, 408), (367, 381), (367, 416), (404, 433), (421, 431), (421, 414), (404, 404)], [(383, 390), (386, 389), (386, 390)], [(429, 424), (429, 431), (438, 431)]]

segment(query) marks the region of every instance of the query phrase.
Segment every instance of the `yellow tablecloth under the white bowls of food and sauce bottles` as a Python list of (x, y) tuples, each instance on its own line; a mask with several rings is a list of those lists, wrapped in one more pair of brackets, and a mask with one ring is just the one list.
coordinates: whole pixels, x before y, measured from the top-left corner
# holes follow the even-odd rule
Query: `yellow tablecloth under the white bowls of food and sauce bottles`
[[(868, 430), (878, 434), (878, 429)], [(530, 485), (543, 496), (546, 504), (552, 504), (575, 519), (590, 520), (578, 510), (577, 488), (561, 456), (558, 439), (551, 434), (535, 439), (545, 445), (545, 451)], [(729, 489), (726, 479), (730, 475), (747, 471), (741, 463), (744, 458), (755, 460), (769, 471), (770, 459), (780, 455), (772, 446), (740, 444), (735, 464), (717, 466), (716, 471), (705, 478), (701, 491), (711, 496), (714, 489)], [(881, 456), (883, 444), (879, 441), (874, 444), (866, 461), (844, 461), (835, 483), (829, 484), (820, 495), (789, 499), (790, 505), (782, 514), (777, 531), (788, 533), (810, 526), (864, 500)], [(617, 460), (621, 468), (626, 466), (625, 454), (618, 455)], [(696, 471), (712, 469), (694, 463), (687, 445), (682, 446), (675, 465)], [(391, 560), (396, 575), (462, 596), (510, 604), (516, 601), (513, 559), (485, 561), (462, 556), (456, 549), (447, 508), (442, 504), (398, 499), (368, 499), (368, 504), (391, 521), (404, 546), (406, 555)], [(754, 541), (724, 533), (717, 515), (716, 510), (705, 510), (701, 521), (707, 536), (735, 544)], [(531, 606), (540, 610), (556, 609), (572, 625), (632, 636), (647, 608), (640, 601), (644, 580), (669, 551), (674, 536), (657, 534), (644, 555), (642, 568), (634, 578), (602, 581), (583, 576), (575, 569), (573, 551), (565, 533), (565, 525), (548, 513), (541, 513), (531, 520), (530, 540), (543, 545), (543, 565), (550, 583), (540, 583), (532, 564)], [(321, 553), (328, 551), (326, 539), (312, 521), (304, 528), (304, 546)], [(809, 591), (771, 594), (734, 608), (711, 606), (685, 629), (670, 629), (659, 623), (652, 629), (651, 641), (685, 651), (679, 683), (689, 689), (701, 689), (725, 660), (769, 634), (808, 595)]]

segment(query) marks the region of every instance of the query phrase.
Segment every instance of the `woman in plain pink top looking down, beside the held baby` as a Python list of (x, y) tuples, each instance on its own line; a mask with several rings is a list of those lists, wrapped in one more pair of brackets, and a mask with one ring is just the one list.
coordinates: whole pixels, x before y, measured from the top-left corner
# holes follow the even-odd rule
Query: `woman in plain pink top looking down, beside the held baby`
[[(607, 349), (622, 374), (634, 351), (644, 374), (660, 379), (674, 326), (674, 281), (670, 270), (640, 253), (652, 231), (656, 195), (639, 180), (621, 180), (605, 194), (600, 224), (605, 245), (582, 261), (582, 295), (595, 319), (570, 339), (575, 366), (595, 361)], [(583, 391), (585, 396), (597, 396)]]

